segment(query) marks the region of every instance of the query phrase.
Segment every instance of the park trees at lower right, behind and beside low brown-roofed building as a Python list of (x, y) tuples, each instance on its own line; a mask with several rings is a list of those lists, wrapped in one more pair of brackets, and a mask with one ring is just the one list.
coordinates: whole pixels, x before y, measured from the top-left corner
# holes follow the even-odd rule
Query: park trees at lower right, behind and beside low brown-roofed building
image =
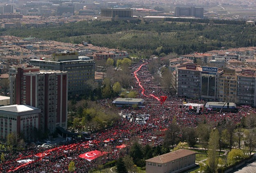
[[(208, 155), (206, 166), (203, 169), (207, 173), (215, 173), (218, 165), (218, 155), (222, 150), (229, 150), (226, 161), (220, 160), (223, 166), (233, 164), (238, 160), (248, 157), (256, 149), (256, 117), (250, 112), (246, 118), (242, 118), (241, 123), (235, 124), (232, 120), (223, 122), (206, 123), (204, 120), (198, 124), (197, 128), (181, 128), (174, 119), (169, 124), (165, 133), (163, 146), (168, 150), (177, 149), (187, 142), (189, 147), (195, 148), (196, 144), (201, 144), (202, 149)], [(235, 149), (236, 148), (236, 149)]]

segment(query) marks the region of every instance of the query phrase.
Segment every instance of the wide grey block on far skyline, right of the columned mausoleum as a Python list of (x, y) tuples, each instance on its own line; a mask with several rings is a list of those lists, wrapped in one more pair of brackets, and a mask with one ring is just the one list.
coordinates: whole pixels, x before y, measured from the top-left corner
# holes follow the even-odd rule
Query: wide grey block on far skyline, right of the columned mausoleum
[(194, 16), (196, 18), (204, 18), (204, 8), (176, 7), (175, 16)]

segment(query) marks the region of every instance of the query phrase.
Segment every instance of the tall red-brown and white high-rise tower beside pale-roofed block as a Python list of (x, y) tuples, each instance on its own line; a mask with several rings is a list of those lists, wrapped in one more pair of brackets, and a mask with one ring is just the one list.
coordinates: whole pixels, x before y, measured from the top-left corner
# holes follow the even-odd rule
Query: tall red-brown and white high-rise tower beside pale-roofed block
[(39, 71), (39, 67), (18, 68), (10, 89), (11, 104), (27, 104), (41, 109), (39, 130), (54, 133), (67, 128), (68, 77), (65, 71)]

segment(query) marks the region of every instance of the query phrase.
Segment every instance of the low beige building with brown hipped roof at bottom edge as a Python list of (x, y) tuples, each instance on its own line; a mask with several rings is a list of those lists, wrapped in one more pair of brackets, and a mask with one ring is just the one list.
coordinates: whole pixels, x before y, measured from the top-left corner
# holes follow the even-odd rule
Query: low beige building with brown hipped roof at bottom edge
[(195, 166), (195, 152), (179, 149), (146, 161), (146, 173), (179, 173)]

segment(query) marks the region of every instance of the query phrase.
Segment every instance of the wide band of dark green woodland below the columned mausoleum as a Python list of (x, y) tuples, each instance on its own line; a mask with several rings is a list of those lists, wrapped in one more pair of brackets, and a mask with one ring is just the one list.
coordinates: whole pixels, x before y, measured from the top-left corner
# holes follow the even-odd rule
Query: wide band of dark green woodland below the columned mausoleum
[[(143, 52), (161, 55), (162, 53), (186, 54), (194, 51), (206, 52), (222, 47), (256, 46), (256, 28), (242, 21), (170, 19), (172, 22), (146, 23), (132, 21), (92, 21), (65, 24), (60, 27), (38, 29), (2, 29), (2, 34), (19, 37), (34, 36), (47, 40), (72, 43), (87, 41), (97, 46), (126, 49), (130, 52)], [(174, 20), (184, 20), (184, 23)], [(185, 21), (186, 20), (186, 21)], [(188, 20), (188, 21), (187, 21)], [(183, 22), (183, 21), (181, 21)], [(129, 32), (128, 32), (129, 31)], [(114, 36), (130, 31), (136, 33)], [(144, 33), (149, 33), (144, 35)], [(174, 33), (167, 35), (166, 33)], [(98, 35), (100, 34), (100, 35)], [(113, 40), (113, 38), (115, 38)], [(161, 47), (161, 50), (157, 49)], [(150, 56), (150, 55), (147, 55)]]

